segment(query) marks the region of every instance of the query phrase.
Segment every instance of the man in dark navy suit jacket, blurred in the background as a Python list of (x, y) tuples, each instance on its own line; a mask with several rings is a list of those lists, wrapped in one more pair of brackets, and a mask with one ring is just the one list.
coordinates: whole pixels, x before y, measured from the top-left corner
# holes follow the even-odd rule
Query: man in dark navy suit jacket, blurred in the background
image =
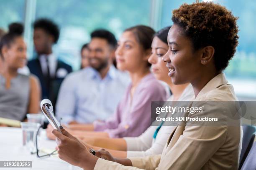
[(28, 68), (40, 80), (42, 99), (50, 99), (55, 108), (61, 82), (68, 73), (72, 72), (72, 67), (58, 60), (52, 52), (52, 46), (59, 39), (58, 26), (51, 20), (43, 18), (36, 20), (33, 27), (37, 57), (28, 62)]

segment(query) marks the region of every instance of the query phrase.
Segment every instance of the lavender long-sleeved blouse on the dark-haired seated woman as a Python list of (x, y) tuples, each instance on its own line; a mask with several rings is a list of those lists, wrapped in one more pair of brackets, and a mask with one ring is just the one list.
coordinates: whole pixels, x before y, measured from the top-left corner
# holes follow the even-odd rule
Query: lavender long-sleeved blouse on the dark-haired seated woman
[(166, 90), (152, 73), (144, 76), (131, 97), (130, 84), (111, 117), (93, 123), (110, 138), (136, 137), (151, 125), (151, 101), (166, 100)]

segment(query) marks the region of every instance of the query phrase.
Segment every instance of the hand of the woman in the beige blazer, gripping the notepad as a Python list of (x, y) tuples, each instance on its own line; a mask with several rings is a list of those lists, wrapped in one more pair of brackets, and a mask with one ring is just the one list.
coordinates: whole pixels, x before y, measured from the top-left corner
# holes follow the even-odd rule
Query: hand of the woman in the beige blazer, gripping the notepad
[(60, 129), (62, 134), (58, 130), (52, 131), (57, 138), (59, 158), (81, 168), (93, 169), (97, 158), (89, 153), (86, 146), (70, 135), (62, 126)]

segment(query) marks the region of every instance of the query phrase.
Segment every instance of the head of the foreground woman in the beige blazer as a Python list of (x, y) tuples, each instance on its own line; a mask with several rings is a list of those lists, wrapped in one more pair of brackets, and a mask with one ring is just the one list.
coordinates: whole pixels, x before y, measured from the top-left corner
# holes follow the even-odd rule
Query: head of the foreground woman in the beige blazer
[[(202, 10), (196, 8), (200, 5)], [(202, 20), (204, 10), (211, 7), (215, 10), (207, 12), (210, 18)], [(165, 58), (174, 84), (201, 82), (194, 87), (197, 96), (212, 77), (228, 66), (238, 45), (237, 19), (225, 7), (213, 3), (182, 5), (173, 11), (174, 25), (169, 31), (166, 53), (169, 57)]]

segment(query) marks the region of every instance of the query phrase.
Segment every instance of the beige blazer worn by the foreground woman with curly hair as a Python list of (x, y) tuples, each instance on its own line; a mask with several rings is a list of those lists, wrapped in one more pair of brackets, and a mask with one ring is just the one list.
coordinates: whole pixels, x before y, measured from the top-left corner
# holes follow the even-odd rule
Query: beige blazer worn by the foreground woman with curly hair
[[(235, 101), (233, 86), (220, 73), (203, 87), (194, 101)], [(225, 107), (225, 108), (223, 108)], [(226, 121), (224, 105), (211, 105), (203, 114), (215, 115)], [(237, 120), (239, 123), (239, 120)], [(240, 153), (241, 128), (224, 123), (218, 126), (179, 125), (172, 131), (161, 155), (130, 158), (133, 167), (98, 159), (95, 170), (237, 170)]]

